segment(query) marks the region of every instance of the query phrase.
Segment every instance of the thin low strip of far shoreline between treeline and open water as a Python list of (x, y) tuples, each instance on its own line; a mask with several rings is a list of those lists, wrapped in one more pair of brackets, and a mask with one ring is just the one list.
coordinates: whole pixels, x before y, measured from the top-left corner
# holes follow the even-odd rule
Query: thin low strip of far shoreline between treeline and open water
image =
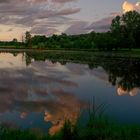
[[(137, 57), (140, 58), (140, 49), (121, 49), (121, 50), (97, 50), (97, 49), (34, 49), (34, 48), (0, 48), (0, 52), (31, 52), (31, 53), (69, 53), (73, 54), (95, 54), (98, 56), (114, 56), (114, 57)], [(52, 54), (53, 55), (53, 54)]]

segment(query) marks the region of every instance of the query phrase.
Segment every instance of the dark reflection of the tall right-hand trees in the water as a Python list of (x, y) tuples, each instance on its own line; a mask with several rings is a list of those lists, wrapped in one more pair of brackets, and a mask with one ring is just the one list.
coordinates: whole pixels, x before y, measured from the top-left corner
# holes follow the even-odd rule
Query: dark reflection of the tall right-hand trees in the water
[(140, 61), (135, 58), (113, 59), (102, 64), (109, 74), (109, 82), (121, 87), (123, 91), (131, 92), (140, 87)]

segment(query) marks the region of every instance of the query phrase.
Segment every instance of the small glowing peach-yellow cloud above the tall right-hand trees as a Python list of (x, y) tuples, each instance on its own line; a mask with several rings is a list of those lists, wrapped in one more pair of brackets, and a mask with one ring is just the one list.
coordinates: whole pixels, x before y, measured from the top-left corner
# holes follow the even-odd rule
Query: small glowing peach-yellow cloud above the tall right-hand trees
[(124, 13), (129, 11), (134, 11), (134, 10), (140, 12), (140, 2), (133, 4), (128, 1), (125, 1), (122, 5), (122, 9)]

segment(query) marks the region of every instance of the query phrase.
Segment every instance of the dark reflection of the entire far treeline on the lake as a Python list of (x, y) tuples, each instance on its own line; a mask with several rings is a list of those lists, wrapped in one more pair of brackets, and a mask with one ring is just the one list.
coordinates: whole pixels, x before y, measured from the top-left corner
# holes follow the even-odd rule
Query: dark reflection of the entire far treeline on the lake
[(67, 62), (88, 64), (90, 69), (103, 67), (109, 75), (108, 81), (112, 85), (121, 87), (130, 92), (135, 87), (140, 87), (140, 61), (138, 58), (116, 57), (98, 53), (83, 52), (49, 52), (49, 53), (27, 53), (27, 56), (36, 61), (46, 59), (52, 62)]

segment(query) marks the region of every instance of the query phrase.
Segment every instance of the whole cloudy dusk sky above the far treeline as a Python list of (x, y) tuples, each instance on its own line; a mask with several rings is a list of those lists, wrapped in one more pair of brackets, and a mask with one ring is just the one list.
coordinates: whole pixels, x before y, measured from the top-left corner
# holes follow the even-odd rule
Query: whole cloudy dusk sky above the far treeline
[(140, 0), (0, 0), (0, 40), (31, 34), (84, 34), (109, 30), (112, 19), (140, 12)]

